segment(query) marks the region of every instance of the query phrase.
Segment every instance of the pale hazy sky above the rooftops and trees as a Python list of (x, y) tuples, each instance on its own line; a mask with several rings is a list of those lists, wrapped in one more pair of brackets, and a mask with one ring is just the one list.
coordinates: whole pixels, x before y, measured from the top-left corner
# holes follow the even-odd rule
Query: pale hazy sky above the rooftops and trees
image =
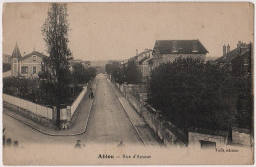
[[(48, 3), (6, 3), (3, 7), (3, 53), (17, 42), (22, 56), (46, 52), (41, 27)], [(199, 39), (220, 57), (239, 40), (253, 42), (251, 3), (69, 3), (69, 48), (74, 59), (123, 60), (156, 40)]]

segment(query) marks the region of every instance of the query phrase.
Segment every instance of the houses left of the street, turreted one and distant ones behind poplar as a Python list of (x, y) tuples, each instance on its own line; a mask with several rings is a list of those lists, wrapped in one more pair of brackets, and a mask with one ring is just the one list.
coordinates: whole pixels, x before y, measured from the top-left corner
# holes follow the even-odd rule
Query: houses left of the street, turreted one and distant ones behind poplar
[[(43, 59), (48, 56), (38, 51), (32, 51), (24, 56), (21, 55), (18, 44), (15, 44), (12, 55), (3, 54), (3, 65), (10, 66), (10, 76), (25, 76), (38, 77), (39, 72), (42, 71)], [(80, 63), (84, 68), (90, 67), (90, 61), (71, 60), (70, 70), (73, 71), (77, 63)]]

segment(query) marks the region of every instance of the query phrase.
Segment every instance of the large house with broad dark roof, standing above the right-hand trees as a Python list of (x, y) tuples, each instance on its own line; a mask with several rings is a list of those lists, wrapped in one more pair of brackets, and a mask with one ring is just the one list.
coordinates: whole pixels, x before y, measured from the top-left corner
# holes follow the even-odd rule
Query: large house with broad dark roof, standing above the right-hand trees
[(177, 58), (195, 58), (205, 61), (207, 49), (199, 40), (156, 40), (150, 61), (152, 68)]

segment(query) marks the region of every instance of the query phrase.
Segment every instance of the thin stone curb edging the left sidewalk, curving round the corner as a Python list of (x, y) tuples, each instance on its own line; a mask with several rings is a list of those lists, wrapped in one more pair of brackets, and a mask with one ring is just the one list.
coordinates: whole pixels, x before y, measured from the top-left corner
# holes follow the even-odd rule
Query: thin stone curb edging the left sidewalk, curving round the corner
[[(94, 81), (94, 83), (95, 83), (95, 81)], [(94, 84), (94, 83), (93, 83), (93, 84)], [(93, 84), (92, 84), (92, 86), (93, 86)], [(95, 89), (95, 91), (96, 91), (96, 89)], [(94, 93), (95, 93), (95, 91), (94, 91)], [(38, 129), (38, 128), (33, 127), (31, 124), (27, 123), (26, 121), (23, 121), (22, 119), (18, 119), (18, 118), (16, 118), (15, 116), (12, 116), (12, 115), (10, 115), (10, 114), (7, 114), (7, 113), (4, 112), (4, 111), (3, 111), (3, 114), (5, 114), (5, 115), (7, 115), (7, 116), (9, 116), (9, 117), (12, 117), (12, 118), (14, 118), (14, 119), (16, 119), (17, 121), (20, 121), (20, 122), (22, 122), (23, 124), (26, 124), (27, 126), (31, 127), (32, 129), (34, 129), (34, 130), (36, 130), (36, 131), (38, 131), (38, 132), (40, 132), (40, 133), (42, 133), (42, 134), (44, 134), (44, 135), (48, 135), (48, 136), (77, 136), (77, 135), (84, 134), (84, 133), (86, 132), (86, 130), (87, 130), (88, 120), (89, 120), (89, 117), (90, 117), (90, 113), (91, 113), (91, 109), (92, 109), (92, 105), (93, 105), (94, 100), (95, 100), (95, 98), (93, 98), (93, 100), (92, 100), (92, 102), (91, 102), (90, 109), (89, 109), (89, 113), (88, 113), (88, 117), (87, 117), (87, 122), (86, 122), (86, 125), (85, 125), (84, 130), (83, 130), (82, 132), (73, 133), (73, 134), (53, 134), (53, 133), (47, 133), (47, 132), (44, 132), (44, 131), (42, 131), (42, 130), (40, 130), (40, 129)]]

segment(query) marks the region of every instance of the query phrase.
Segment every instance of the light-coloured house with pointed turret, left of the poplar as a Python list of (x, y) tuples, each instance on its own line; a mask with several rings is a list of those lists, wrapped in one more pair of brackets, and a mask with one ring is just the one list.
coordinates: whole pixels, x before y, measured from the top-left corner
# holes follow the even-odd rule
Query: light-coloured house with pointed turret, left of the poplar
[(44, 54), (32, 51), (22, 57), (19, 47), (16, 43), (11, 56), (11, 75), (12, 76), (38, 76), (42, 70), (42, 61), (47, 58)]

